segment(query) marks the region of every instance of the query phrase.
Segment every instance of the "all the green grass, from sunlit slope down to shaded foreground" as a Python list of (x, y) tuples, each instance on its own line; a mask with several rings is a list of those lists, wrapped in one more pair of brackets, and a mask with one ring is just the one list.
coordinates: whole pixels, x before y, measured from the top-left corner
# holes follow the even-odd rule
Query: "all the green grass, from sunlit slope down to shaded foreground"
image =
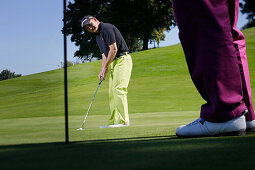
[[(243, 31), (255, 95), (255, 27)], [(68, 67), (69, 145), (64, 144), (63, 69), (0, 81), (1, 169), (252, 169), (255, 134), (180, 139), (176, 128), (199, 117), (180, 44), (131, 54), (131, 126), (100, 129), (109, 118), (101, 61)], [(253, 101), (253, 104), (254, 101)]]

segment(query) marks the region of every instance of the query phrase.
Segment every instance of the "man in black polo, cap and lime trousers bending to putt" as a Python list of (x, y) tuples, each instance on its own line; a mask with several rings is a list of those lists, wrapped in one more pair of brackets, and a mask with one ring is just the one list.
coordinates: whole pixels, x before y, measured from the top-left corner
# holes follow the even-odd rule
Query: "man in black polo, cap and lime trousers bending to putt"
[(118, 28), (110, 23), (99, 22), (90, 15), (82, 18), (81, 26), (85, 30), (97, 34), (96, 41), (102, 55), (99, 79), (105, 80), (107, 72), (110, 72), (109, 104), (111, 116), (108, 125), (100, 127), (129, 126), (127, 88), (133, 63), (127, 44)]

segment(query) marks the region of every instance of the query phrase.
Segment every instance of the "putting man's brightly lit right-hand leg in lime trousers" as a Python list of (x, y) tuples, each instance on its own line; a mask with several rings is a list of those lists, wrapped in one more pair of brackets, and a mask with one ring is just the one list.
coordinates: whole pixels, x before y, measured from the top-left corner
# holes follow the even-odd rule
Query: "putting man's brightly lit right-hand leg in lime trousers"
[(116, 60), (113, 72), (113, 95), (114, 103), (119, 116), (120, 124), (129, 124), (128, 115), (128, 84), (131, 77), (132, 59), (130, 55), (120, 57)]

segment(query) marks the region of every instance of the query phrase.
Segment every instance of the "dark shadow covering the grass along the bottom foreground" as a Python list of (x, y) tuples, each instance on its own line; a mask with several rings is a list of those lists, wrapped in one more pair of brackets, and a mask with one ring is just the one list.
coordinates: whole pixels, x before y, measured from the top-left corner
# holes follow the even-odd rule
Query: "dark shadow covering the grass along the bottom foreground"
[(255, 134), (0, 146), (1, 169), (253, 169)]

